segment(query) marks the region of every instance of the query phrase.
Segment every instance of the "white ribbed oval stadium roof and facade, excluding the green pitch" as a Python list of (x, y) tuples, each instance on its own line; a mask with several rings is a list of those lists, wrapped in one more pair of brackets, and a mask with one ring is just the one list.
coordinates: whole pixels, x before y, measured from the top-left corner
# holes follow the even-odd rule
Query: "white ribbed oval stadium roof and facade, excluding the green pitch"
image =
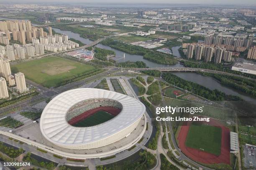
[[(92, 126), (74, 126), (77, 120), (99, 110), (107, 110), (113, 117)], [(127, 95), (78, 88), (57, 95), (46, 105), (40, 119), (40, 130), (44, 138), (62, 148), (100, 148), (130, 135), (145, 111), (140, 101)]]

